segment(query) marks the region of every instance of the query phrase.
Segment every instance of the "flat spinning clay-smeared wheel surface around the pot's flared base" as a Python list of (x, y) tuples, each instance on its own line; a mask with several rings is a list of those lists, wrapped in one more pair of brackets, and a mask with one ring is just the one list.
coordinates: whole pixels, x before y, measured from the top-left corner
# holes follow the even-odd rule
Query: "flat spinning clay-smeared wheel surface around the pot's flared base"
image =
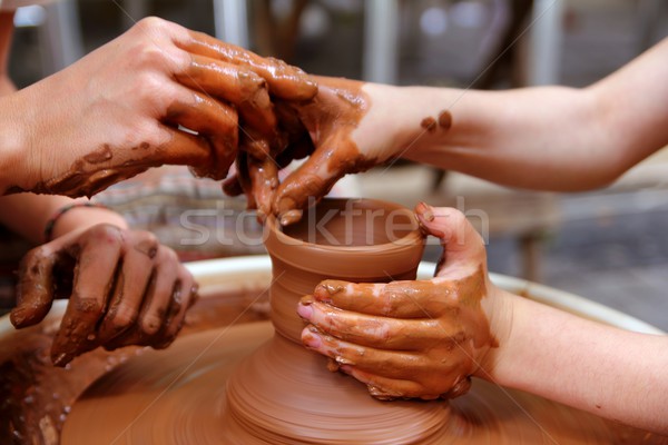
[[(229, 443), (222, 439), (227, 436), (226, 382), (235, 366), (273, 335), (269, 323), (252, 323), (193, 334), (167, 350), (132, 357), (79, 397), (61, 443), (91, 438), (99, 444)], [(393, 424), (397, 431), (411, 428)], [(481, 380), (451, 403), (442, 432), (443, 444), (610, 444), (647, 438), (645, 433), (620, 431), (593, 415)]]

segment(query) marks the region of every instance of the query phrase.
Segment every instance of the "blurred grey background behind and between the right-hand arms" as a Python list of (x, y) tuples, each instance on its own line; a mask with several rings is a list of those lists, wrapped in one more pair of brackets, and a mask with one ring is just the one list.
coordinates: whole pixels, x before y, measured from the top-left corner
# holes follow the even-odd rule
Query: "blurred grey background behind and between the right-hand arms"
[[(63, 0), (18, 11), (11, 77), (38, 81), (146, 16), (313, 73), (480, 89), (588, 86), (668, 36), (665, 0)], [(587, 194), (513, 190), (411, 164), (360, 175), (348, 190), (458, 207), (485, 236), (490, 270), (668, 330), (665, 151)], [(435, 260), (438, 246), (426, 255)]]

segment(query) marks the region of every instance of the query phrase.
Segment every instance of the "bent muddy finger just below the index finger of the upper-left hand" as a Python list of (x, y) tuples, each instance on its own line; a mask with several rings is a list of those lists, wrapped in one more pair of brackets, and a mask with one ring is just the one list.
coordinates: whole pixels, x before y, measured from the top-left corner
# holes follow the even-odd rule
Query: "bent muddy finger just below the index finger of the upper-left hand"
[(234, 103), (244, 123), (271, 135), (276, 127), (266, 81), (252, 70), (193, 55), (189, 67), (176, 80), (195, 91)]

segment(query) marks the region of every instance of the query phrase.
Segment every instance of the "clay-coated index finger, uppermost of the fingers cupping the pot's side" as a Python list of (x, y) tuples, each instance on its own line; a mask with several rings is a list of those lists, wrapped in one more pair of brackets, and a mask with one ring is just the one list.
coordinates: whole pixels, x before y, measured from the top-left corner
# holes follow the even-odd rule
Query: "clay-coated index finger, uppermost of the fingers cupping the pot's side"
[(355, 313), (393, 318), (438, 318), (452, 310), (451, 283), (402, 280), (389, 284), (327, 279), (313, 293), (317, 301)]

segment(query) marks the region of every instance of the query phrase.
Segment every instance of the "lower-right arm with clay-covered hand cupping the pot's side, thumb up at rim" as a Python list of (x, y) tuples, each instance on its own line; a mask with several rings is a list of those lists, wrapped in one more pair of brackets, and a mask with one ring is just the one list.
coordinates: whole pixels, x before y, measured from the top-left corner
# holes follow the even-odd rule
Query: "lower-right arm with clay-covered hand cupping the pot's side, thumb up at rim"
[[(302, 339), (343, 364), (372, 395), (455, 397), (471, 376), (668, 432), (668, 337), (605, 326), (509, 294), (487, 277), (464, 216), (419, 206), (439, 236), (435, 277), (386, 285), (324, 281), (298, 306)], [(481, 276), (482, 273), (482, 276)]]

